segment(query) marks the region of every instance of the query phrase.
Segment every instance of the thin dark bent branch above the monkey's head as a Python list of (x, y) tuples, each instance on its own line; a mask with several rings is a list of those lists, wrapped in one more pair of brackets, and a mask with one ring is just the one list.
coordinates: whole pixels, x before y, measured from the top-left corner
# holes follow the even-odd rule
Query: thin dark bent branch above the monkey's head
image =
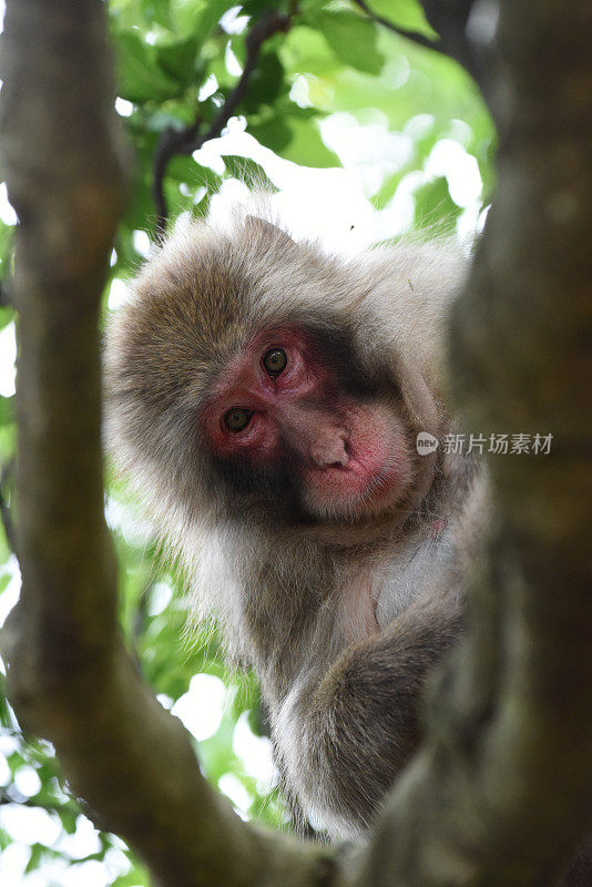
[(269, 10), (251, 29), (246, 38), (246, 60), (243, 73), (236, 82), (234, 89), (228, 93), (226, 101), (204, 133), (200, 133), (202, 121), (200, 115), (195, 122), (188, 126), (176, 130), (169, 126), (163, 131), (156, 144), (154, 153), (154, 183), (153, 196), (156, 205), (156, 231), (162, 236), (166, 228), (169, 210), (164, 195), (164, 177), (169, 162), (175, 154), (193, 154), (202, 145), (212, 139), (217, 139), (224, 126), (227, 124), (248, 90), (251, 75), (257, 67), (257, 59), (262, 45), (276, 33), (287, 31), (289, 28), (289, 16), (285, 16), (276, 10)]

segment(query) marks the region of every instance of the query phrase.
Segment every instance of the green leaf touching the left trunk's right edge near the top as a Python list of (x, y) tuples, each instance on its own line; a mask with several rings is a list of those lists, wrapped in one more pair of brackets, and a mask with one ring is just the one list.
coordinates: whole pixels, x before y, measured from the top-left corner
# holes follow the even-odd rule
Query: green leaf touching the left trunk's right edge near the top
[(118, 59), (118, 94), (130, 102), (163, 102), (180, 95), (178, 81), (169, 77), (156, 63), (156, 50), (127, 31), (113, 35)]

